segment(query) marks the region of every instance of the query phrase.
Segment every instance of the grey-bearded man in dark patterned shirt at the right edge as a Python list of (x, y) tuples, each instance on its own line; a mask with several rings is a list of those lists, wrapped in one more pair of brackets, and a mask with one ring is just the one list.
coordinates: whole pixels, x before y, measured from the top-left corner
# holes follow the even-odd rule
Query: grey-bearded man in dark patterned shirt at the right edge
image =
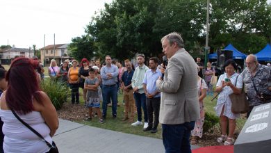
[(241, 75), (249, 99), (248, 118), (254, 106), (271, 102), (271, 67), (259, 64), (254, 54), (247, 56), (245, 65)]

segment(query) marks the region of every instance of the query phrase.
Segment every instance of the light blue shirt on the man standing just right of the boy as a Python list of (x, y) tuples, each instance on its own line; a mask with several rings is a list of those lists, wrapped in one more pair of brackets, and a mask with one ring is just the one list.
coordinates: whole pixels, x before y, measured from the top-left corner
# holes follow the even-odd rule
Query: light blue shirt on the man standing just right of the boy
[[(112, 78), (108, 78), (106, 74), (112, 74)], [(103, 85), (111, 86), (117, 83), (117, 77), (119, 76), (119, 69), (116, 65), (101, 67), (101, 82)]]

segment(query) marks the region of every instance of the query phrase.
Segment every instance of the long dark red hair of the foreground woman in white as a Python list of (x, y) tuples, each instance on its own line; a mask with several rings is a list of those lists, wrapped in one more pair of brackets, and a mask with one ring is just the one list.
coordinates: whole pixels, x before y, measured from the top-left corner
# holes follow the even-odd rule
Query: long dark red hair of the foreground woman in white
[[(29, 58), (16, 58), (6, 73), (8, 88), (6, 90), (6, 103), (10, 110), (18, 113), (34, 111), (33, 98), (42, 104), (40, 87), (35, 67), (38, 61)], [(43, 105), (43, 104), (42, 104)]]

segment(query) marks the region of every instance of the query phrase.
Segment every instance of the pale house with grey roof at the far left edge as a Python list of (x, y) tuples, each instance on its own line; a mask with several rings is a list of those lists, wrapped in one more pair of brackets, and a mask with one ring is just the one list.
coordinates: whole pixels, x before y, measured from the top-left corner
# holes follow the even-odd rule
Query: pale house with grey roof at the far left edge
[(32, 58), (34, 51), (32, 49), (12, 47), (0, 51), (1, 64), (10, 64), (15, 56)]

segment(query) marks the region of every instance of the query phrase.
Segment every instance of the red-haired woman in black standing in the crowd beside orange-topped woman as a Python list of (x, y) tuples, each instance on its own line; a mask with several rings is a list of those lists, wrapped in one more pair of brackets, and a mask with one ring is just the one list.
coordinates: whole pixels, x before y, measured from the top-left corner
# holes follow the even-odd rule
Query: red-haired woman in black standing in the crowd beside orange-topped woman
[(80, 69), (79, 69), (79, 77), (80, 77), (80, 85), (79, 87), (83, 89), (83, 99), (84, 102), (86, 103), (87, 100), (87, 90), (84, 89), (84, 83), (85, 83), (85, 79), (88, 78), (88, 70), (90, 69), (90, 67), (88, 66), (90, 63), (88, 62), (87, 58), (83, 58), (81, 63), (80, 63)]

